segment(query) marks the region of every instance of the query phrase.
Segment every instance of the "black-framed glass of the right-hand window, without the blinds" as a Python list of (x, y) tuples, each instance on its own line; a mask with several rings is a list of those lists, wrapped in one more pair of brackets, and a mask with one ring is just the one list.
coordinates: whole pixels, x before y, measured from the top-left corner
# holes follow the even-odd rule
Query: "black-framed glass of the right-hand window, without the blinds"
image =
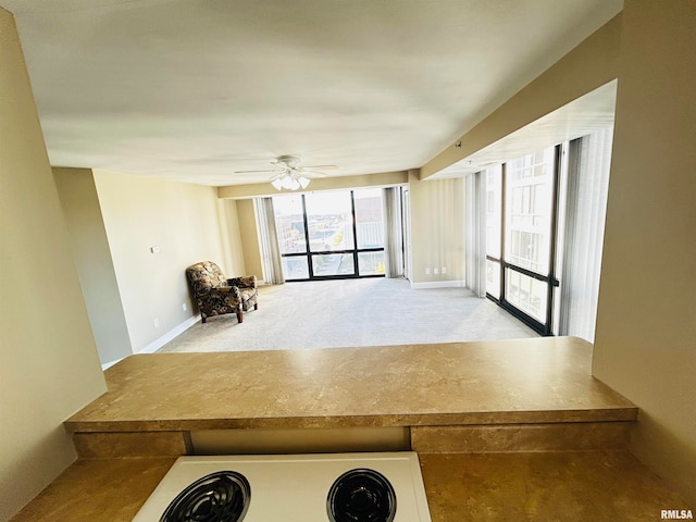
[(561, 146), (486, 172), (486, 291), (542, 334), (551, 333)]

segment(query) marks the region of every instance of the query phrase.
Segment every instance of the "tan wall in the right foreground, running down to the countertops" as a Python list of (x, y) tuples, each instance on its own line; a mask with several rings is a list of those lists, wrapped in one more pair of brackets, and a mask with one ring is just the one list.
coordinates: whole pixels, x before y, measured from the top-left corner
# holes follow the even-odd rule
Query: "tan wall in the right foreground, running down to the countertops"
[(626, 0), (594, 374), (696, 502), (696, 2)]

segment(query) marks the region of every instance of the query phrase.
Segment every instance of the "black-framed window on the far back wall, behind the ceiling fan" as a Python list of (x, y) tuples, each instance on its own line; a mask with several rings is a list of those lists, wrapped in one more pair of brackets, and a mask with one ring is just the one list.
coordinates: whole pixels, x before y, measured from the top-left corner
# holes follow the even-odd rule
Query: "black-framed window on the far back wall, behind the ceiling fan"
[(384, 275), (382, 189), (273, 198), (286, 281)]

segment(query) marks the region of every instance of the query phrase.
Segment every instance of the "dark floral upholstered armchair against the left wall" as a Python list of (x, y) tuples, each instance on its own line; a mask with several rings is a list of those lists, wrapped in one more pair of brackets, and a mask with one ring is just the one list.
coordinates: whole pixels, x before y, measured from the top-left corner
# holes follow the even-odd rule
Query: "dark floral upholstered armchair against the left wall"
[(259, 309), (256, 275), (228, 279), (215, 263), (202, 261), (186, 269), (186, 276), (203, 323), (207, 318), (223, 313), (236, 313), (241, 323), (243, 310)]

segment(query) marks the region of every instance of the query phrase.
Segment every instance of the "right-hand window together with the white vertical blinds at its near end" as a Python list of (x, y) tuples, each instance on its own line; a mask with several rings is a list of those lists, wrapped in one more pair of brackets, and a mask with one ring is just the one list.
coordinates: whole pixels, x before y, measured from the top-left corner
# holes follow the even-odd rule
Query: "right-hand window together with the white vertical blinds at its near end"
[(543, 335), (594, 341), (612, 127), (488, 169), (486, 295)]

